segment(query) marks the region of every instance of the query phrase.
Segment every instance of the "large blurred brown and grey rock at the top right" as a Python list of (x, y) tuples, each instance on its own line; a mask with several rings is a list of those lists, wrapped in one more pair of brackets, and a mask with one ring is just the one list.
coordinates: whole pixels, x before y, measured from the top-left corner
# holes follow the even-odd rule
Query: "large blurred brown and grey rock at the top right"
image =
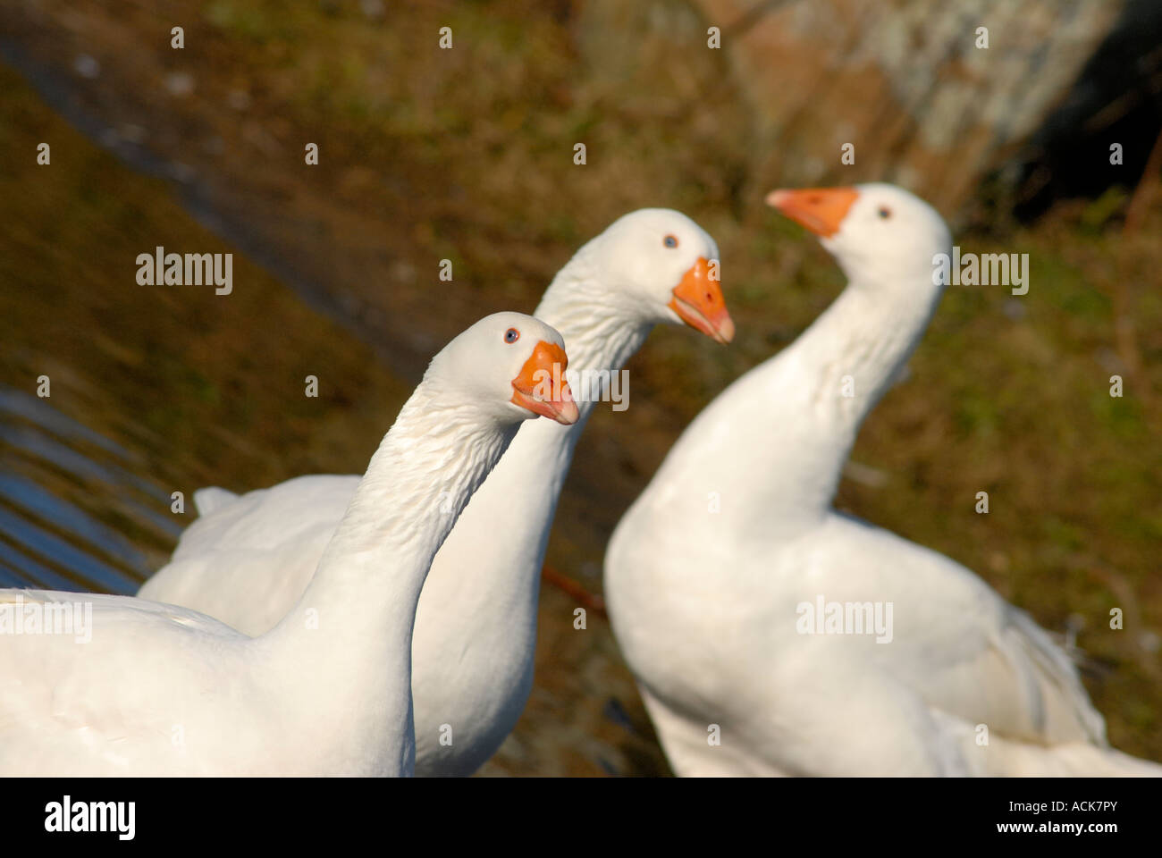
[(1124, 6), (695, 2), (743, 80), (768, 184), (897, 181), (946, 212), (1039, 129)]

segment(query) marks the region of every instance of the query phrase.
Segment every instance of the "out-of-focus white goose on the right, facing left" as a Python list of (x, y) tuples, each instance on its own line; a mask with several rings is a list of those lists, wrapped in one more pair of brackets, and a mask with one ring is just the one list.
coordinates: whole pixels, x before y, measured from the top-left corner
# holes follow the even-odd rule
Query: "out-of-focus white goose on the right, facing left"
[[(940, 216), (881, 184), (768, 202), (822, 236), (849, 283), (698, 415), (605, 558), (610, 620), (674, 771), (1162, 771), (1106, 745), (1074, 666), (1026, 614), (831, 507), (860, 423), (939, 300)], [(853, 606), (848, 631), (890, 603), (890, 632), (801, 634), (820, 601), (819, 630), (839, 628), (831, 603)]]

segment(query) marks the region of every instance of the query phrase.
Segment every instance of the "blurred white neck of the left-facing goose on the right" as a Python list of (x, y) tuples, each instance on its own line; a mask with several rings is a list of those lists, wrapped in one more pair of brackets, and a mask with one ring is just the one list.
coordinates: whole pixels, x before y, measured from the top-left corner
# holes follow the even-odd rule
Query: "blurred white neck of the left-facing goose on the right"
[[(860, 424), (908, 360), (941, 288), (853, 280), (792, 343), (726, 388), (674, 446), (657, 479), (724, 525), (794, 529), (827, 513)], [(672, 500), (672, 499), (670, 499)]]

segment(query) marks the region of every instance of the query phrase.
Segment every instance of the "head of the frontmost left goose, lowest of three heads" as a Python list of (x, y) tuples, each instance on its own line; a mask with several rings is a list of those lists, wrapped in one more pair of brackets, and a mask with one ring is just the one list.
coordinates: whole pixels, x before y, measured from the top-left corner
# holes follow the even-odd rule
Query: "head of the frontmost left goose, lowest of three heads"
[(523, 313), (494, 313), (444, 346), (424, 380), (497, 423), (544, 416), (568, 426), (578, 420), (568, 363), (555, 328)]

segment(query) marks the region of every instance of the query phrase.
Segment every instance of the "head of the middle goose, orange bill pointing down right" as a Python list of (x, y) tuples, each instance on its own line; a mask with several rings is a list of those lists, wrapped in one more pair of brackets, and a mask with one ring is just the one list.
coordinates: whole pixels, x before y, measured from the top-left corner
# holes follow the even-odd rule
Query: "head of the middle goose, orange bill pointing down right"
[(594, 242), (610, 300), (643, 322), (688, 324), (719, 343), (734, 337), (718, 280), (718, 245), (681, 212), (643, 208)]

